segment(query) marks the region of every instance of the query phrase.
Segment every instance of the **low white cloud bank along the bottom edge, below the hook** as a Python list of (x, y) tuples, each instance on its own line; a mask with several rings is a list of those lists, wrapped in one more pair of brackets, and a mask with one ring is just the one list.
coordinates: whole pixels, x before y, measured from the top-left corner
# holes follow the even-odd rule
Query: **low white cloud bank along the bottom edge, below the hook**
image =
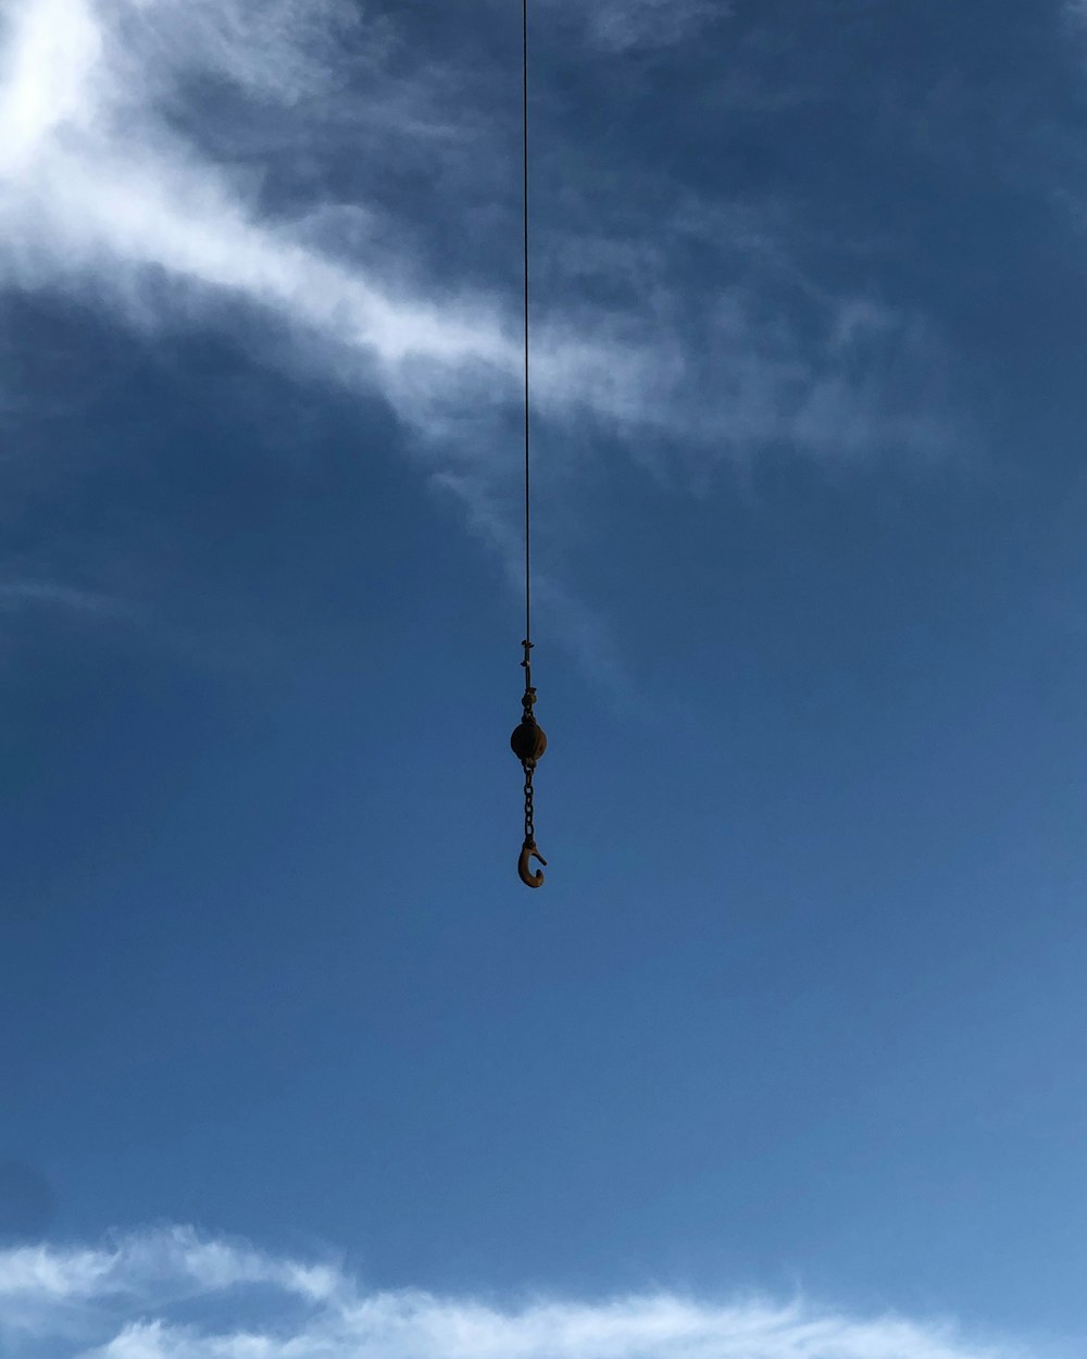
[[(24, 1359), (1011, 1359), (950, 1325), (804, 1301), (666, 1292), (500, 1307), (372, 1292), (329, 1263), (188, 1229), (0, 1252), (0, 1341)], [(1038, 1359), (1037, 1351), (1034, 1359)]]

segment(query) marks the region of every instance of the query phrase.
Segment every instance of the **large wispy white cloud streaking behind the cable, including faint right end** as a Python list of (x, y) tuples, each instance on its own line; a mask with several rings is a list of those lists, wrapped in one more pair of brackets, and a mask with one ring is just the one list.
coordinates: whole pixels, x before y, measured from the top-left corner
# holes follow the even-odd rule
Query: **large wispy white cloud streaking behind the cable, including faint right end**
[[(667, 46), (726, 12), (609, 0), (583, 42)], [(383, 400), (512, 571), (518, 147), (493, 110), (516, 75), (424, 53), (345, 0), (11, 0), (0, 23), (0, 288), (76, 299), (148, 342), (226, 330)], [(390, 192), (405, 167), (421, 188)], [(913, 400), (940, 367), (919, 319), (808, 289), (798, 326), (768, 300), (780, 277), (762, 292), (780, 227), (766, 251), (770, 228), (721, 232), (723, 208), (571, 181), (541, 216), (541, 455), (580, 457), (603, 431), (698, 485), (768, 447), (946, 448)]]

